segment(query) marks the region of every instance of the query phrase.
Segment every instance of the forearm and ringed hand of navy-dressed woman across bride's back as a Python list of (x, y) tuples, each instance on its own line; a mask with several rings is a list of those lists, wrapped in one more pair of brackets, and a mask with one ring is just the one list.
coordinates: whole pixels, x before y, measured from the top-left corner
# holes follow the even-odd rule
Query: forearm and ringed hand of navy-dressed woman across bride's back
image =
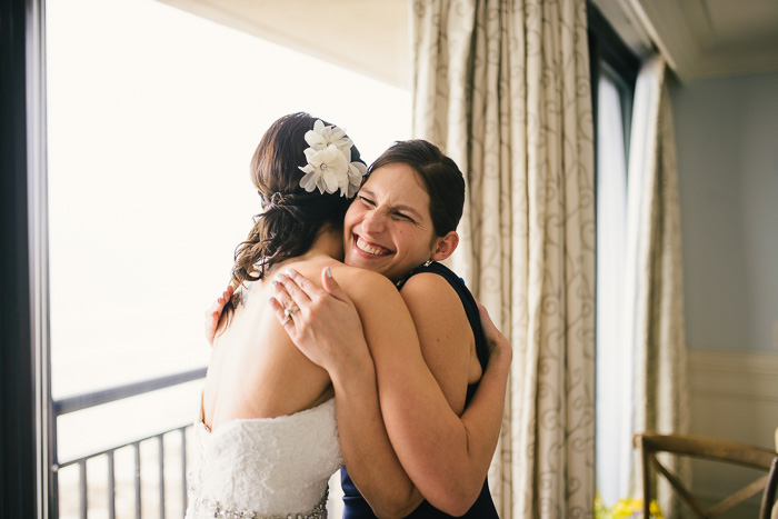
[[(361, 273), (365, 272), (365, 273)], [(392, 296), (397, 290), (386, 280), (367, 271), (353, 271), (346, 285), (360, 286), (373, 293), (380, 292), (380, 286), (389, 285)], [(375, 281), (380, 280), (378, 287)], [(283, 282), (283, 280), (281, 280)], [(322, 272), (322, 285), (333, 282)], [(378, 517), (406, 517), (423, 499), (400, 465), (389, 441), (383, 426), (378, 401), (378, 385), (372, 357), (368, 350), (357, 308), (339, 290), (340, 299), (330, 297), (306, 280), (307, 291), (288, 282), (289, 292), (293, 295), (299, 312), (287, 320), (286, 308), (291, 308), (288, 293), (278, 292), (280, 303), (271, 300), (279, 321), (298, 345), (298, 348), (315, 363), (329, 371), (335, 388), (336, 412), (340, 446), (349, 476), (362, 497), (368, 501)], [(279, 286), (280, 288), (281, 286)], [(359, 299), (359, 298), (358, 298)], [(318, 308), (327, 305), (329, 311)], [(410, 323), (405, 307), (389, 305), (387, 322)], [(400, 310), (405, 316), (392, 311)], [(286, 323), (285, 323), (286, 321)], [(373, 335), (397, 333), (403, 340), (418, 340), (412, 326), (400, 326), (397, 330), (372, 330)]]

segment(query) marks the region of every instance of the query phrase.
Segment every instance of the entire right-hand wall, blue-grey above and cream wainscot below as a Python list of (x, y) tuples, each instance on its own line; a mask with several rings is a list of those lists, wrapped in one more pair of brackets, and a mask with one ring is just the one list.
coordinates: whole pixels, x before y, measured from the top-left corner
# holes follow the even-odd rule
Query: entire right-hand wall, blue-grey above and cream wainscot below
[[(774, 447), (778, 427), (778, 73), (671, 90), (692, 435)], [(748, 469), (692, 463), (711, 503)], [(747, 510), (756, 516), (758, 502)], [(742, 516), (739, 516), (742, 517)]]

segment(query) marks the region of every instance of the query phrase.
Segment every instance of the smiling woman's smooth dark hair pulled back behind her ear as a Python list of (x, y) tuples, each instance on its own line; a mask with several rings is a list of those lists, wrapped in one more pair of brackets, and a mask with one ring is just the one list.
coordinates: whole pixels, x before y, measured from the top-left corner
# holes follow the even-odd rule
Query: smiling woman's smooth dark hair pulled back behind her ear
[(423, 182), (436, 236), (456, 230), (465, 207), (465, 178), (457, 163), (433, 143), (413, 139), (395, 142), (370, 164), (368, 174), (397, 163), (410, 166)]

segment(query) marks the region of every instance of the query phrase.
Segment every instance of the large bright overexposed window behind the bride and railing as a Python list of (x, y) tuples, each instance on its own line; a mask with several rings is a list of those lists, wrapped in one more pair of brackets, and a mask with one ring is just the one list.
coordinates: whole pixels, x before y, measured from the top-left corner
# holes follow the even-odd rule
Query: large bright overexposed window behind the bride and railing
[[(410, 92), (158, 1), (52, 0), (46, 22), (54, 401), (206, 366), (203, 312), (260, 210), (249, 162), (273, 120), (330, 120), (368, 163), (410, 133)], [(190, 423), (199, 387), (60, 416), (60, 465)], [(171, 463), (159, 476), (154, 461), (180, 443), (159, 442), (138, 447), (152, 459), (142, 507), (180, 516)], [(64, 467), (60, 517), (83, 506), (81, 478), (90, 511), (134, 506), (132, 463), (131, 450), (117, 450), (80, 473)]]

